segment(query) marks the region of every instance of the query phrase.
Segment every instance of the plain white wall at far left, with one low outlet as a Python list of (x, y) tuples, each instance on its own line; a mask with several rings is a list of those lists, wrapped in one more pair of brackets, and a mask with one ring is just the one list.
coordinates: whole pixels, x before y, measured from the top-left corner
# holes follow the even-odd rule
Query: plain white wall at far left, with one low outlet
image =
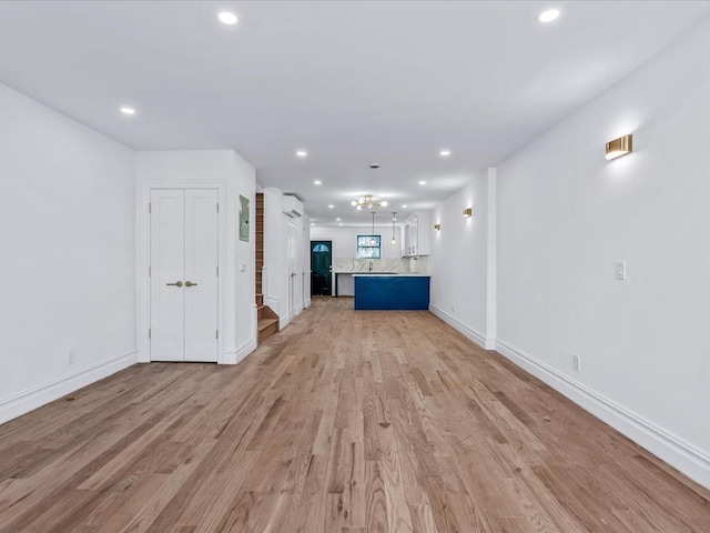
[(0, 422), (135, 362), (133, 175), (130, 149), (0, 84)]

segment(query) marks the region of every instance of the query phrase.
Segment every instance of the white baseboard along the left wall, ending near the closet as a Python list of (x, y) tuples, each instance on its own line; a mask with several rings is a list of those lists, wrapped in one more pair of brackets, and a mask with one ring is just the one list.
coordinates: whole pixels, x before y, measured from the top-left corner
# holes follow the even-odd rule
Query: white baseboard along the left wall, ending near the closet
[(0, 400), (0, 424), (34, 411), (49, 402), (59, 400), (82, 386), (90, 385), (135, 363), (138, 363), (138, 350), (129, 350), (71, 374), (62, 375), (18, 394), (3, 398)]

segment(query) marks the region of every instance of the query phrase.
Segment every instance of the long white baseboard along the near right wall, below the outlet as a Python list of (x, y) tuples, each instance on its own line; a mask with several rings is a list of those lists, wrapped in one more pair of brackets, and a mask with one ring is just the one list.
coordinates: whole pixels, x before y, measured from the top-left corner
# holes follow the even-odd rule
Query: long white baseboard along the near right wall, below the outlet
[(659, 428), (650, 420), (572, 380), (506, 341), (497, 339), (496, 349), (518, 366), (539, 378), (696, 482), (710, 489), (710, 454), (708, 452)]

